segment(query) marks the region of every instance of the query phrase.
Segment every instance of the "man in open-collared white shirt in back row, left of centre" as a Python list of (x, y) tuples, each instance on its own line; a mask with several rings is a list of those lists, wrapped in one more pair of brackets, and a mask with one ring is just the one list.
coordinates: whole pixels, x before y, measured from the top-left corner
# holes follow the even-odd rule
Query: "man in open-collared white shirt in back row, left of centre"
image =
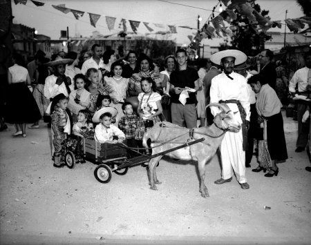
[[(86, 72), (89, 68), (95, 68), (98, 71), (104, 69), (104, 60), (102, 59), (102, 47), (99, 44), (94, 44), (91, 48), (93, 56), (91, 59), (86, 59), (82, 64), (81, 72), (83, 75), (86, 75)], [(102, 81), (102, 72), (98, 72), (100, 75), (100, 81)]]

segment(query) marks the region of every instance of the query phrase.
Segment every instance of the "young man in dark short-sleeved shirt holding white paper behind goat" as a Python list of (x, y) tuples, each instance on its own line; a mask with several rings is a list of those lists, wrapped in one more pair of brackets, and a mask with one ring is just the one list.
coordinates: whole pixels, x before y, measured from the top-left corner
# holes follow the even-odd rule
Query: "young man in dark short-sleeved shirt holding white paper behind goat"
[[(170, 75), (171, 121), (178, 126), (196, 127), (196, 91), (199, 90), (198, 72), (187, 66), (187, 51), (180, 48), (176, 51), (178, 68)], [(185, 92), (183, 92), (185, 90)], [(189, 93), (189, 95), (187, 94)], [(182, 104), (180, 94), (187, 99)]]

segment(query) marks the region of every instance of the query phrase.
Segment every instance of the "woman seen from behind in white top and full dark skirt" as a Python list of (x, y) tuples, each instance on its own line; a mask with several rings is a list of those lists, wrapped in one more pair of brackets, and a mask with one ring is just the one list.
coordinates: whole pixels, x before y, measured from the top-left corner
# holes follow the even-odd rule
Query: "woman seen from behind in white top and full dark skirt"
[(5, 120), (15, 124), (13, 136), (26, 137), (26, 123), (35, 123), (41, 118), (37, 103), (27, 85), (30, 85), (28, 70), (21, 66), (23, 58), (13, 54), (14, 66), (8, 68), (8, 97)]

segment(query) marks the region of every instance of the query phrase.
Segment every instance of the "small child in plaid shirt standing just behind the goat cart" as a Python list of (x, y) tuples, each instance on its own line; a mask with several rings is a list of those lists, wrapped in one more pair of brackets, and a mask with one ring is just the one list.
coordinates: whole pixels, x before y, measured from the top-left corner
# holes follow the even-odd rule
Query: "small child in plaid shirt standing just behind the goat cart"
[[(119, 128), (125, 135), (127, 145), (132, 148), (137, 148), (138, 142), (135, 139), (135, 130), (138, 128), (138, 121), (140, 118), (136, 113), (133, 113), (133, 106), (129, 102), (125, 102), (122, 105), (122, 110), (125, 116), (121, 117), (118, 124)], [(128, 155), (130, 158), (136, 156), (131, 150), (128, 151)]]

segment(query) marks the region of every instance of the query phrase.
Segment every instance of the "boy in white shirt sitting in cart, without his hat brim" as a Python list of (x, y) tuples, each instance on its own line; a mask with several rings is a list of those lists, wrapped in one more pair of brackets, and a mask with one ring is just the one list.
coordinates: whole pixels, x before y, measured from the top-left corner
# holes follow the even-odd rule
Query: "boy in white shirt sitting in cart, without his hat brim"
[[(100, 124), (95, 128), (95, 141), (115, 144), (122, 143), (125, 139), (124, 133), (111, 124), (111, 117), (110, 112), (104, 112), (104, 114), (100, 115)], [(116, 136), (118, 139), (113, 139), (113, 136)]]

